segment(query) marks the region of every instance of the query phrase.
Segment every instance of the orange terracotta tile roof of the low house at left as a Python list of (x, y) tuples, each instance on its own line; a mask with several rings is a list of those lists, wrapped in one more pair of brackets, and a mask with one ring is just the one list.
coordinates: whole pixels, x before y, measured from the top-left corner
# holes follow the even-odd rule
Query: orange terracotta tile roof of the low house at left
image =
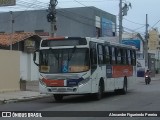
[(40, 36), (38, 36), (35, 33), (31, 33), (31, 32), (0, 34), (0, 45), (9, 46), (11, 44), (11, 41), (12, 41), (12, 44), (15, 44), (17, 42), (24, 41), (27, 38), (30, 38), (33, 36), (37, 37), (39, 40), (41, 39)]

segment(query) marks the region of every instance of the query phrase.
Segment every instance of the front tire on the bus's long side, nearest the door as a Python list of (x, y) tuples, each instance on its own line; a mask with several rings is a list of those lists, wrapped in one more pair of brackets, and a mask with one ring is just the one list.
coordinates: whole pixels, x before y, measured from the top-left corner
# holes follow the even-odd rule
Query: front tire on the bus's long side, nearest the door
[(103, 91), (104, 91), (104, 83), (102, 80), (100, 80), (99, 85), (98, 85), (98, 92), (95, 94), (96, 100), (100, 100), (102, 98)]

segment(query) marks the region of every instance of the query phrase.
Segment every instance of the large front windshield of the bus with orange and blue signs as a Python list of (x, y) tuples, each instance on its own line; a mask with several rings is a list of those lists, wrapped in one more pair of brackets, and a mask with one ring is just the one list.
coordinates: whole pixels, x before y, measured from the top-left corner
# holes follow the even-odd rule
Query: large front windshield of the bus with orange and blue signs
[(45, 49), (40, 51), (40, 72), (77, 73), (89, 70), (89, 49)]

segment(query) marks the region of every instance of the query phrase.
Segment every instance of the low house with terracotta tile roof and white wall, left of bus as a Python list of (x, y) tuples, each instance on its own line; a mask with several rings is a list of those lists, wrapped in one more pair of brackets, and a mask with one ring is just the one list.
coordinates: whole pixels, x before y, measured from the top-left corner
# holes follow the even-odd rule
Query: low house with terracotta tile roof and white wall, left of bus
[(38, 79), (38, 67), (33, 63), (33, 51), (39, 48), (40, 40), (41, 37), (35, 33), (0, 34), (0, 49), (20, 51), (19, 80)]

